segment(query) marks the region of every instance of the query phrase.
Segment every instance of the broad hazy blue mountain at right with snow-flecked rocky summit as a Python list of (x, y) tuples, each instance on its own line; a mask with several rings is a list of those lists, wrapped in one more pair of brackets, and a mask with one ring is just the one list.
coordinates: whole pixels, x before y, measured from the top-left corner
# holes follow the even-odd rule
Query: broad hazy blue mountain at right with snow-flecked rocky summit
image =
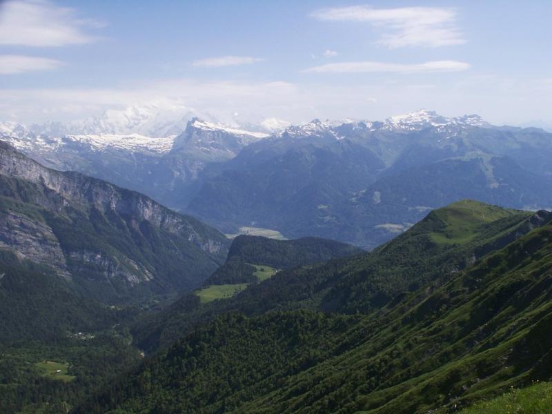
[(551, 157), (552, 134), (477, 115), (315, 120), (244, 148), (186, 210), (225, 231), (257, 226), (373, 247), (457, 199), (552, 206)]

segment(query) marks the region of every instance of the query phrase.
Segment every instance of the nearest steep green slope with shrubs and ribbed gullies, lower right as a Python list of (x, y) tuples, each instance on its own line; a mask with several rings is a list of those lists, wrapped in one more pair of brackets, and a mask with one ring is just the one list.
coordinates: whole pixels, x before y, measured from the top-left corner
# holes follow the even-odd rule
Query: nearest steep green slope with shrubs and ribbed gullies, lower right
[[(474, 228), (482, 235), (485, 222), (508, 218), (486, 213), (453, 206), (424, 226), (441, 228), (438, 244), (466, 245)], [(502, 234), (512, 242), (380, 311), (221, 316), (75, 412), (446, 413), (548, 379), (550, 219), (529, 218), (524, 226), (537, 226), (529, 233)], [(485, 246), (497, 246), (500, 234)]]

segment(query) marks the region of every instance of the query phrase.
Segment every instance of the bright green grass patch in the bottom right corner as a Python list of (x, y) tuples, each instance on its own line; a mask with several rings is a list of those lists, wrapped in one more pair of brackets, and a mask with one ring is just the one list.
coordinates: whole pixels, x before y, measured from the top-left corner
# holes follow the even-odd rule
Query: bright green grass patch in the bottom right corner
[(511, 388), (494, 400), (480, 402), (460, 414), (550, 414), (552, 413), (552, 384), (541, 382), (527, 388)]

